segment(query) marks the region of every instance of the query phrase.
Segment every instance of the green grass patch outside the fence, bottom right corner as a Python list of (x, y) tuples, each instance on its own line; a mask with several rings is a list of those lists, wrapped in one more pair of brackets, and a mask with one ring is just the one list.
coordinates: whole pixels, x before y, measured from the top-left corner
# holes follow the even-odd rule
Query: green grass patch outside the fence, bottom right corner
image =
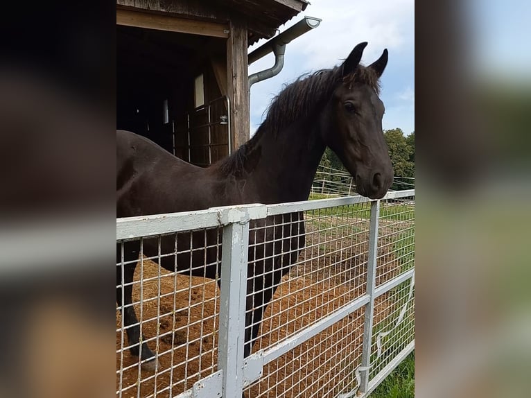
[(397, 366), (391, 374), (376, 387), (370, 398), (412, 398), (415, 397), (415, 351)]

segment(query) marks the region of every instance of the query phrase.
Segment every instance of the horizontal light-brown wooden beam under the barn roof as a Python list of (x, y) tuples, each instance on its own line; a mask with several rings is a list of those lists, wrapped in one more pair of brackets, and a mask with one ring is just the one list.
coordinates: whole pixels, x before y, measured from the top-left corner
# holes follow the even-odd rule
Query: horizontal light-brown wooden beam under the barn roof
[(116, 8), (116, 24), (137, 28), (156, 29), (180, 33), (192, 33), (214, 37), (229, 37), (229, 26), (211, 21), (199, 21), (171, 15), (155, 14), (135, 10)]

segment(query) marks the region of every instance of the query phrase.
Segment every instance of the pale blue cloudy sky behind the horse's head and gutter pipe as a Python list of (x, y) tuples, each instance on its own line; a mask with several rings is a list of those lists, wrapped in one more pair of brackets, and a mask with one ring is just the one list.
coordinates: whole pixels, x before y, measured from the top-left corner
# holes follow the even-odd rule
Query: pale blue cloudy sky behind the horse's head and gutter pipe
[[(284, 68), (275, 77), (251, 87), (251, 135), (265, 118), (273, 96), (303, 73), (331, 68), (342, 62), (360, 42), (368, 42), (362, 64), (377, 60), (383, 49), (389, 62), (381, 77), (385, 105), (383, 129), (415, 131), (415, 20), (414, 0), (311, 0), (304, 12), (279, 28), (280, 32), (302, 17), (322, 19), (320, 26), (286, 45)], [(250, 47), (253, 51), (266, 40)], [(249, 74), (268, 69), (275, 55), (249, 65)]]

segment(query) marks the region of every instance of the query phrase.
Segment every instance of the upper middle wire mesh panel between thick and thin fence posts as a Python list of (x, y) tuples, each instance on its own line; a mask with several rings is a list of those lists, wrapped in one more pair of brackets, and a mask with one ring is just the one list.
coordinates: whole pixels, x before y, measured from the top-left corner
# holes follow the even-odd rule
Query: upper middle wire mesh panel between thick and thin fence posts
[[(282, 214), (250, 229), (247, 329), (261, 331), (253, 351), (281, 343), (363, 295), (370, 205)], [(272, 298), (262, 304), (263, 293)], [(255, 300), (252, 300), (253, 295)], [(267, 302), (268, 297), (262, 300)], [(263, 310), (263, 318), (256, 310)]]

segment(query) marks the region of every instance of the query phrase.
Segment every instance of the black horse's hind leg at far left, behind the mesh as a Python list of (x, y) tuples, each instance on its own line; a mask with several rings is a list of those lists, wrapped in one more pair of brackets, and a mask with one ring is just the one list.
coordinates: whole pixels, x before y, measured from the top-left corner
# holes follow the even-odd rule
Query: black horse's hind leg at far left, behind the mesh
[[(142, 343), (141, 347), (139, 344), (140, 340), (140, 325), (138, 324), (137, 314), (134, 313), (134, 308), (132, 304), (132, 281), (134, 275), (134, 268), (137, 267), (136, 260), (138, 259), (140, 250), (140, 244), (138, 242), (127, 242), (123, 244), (123, 261), (133, 261), (132, 263), (123, 264), (121, 263), (121, 245), (116, 245), (116, 303), (119, 306), (119, 309), (123, 316), (123, 326), (128, 334), (128, 342), (130, 347), (130, 353), (134, 356), (140, 356), (141, 360), (152, 358), (155, 360), (155, 353), (151, 351), (147, 343)], [(123, 306), (125, 306), (125, 311), (122, 306), (122, 268), (123, 268)], [(142, 335), (142, 340), (146, 340)], [(155, 361), (148, 361), (142, 363), (143, 370), (155, 370)]]

